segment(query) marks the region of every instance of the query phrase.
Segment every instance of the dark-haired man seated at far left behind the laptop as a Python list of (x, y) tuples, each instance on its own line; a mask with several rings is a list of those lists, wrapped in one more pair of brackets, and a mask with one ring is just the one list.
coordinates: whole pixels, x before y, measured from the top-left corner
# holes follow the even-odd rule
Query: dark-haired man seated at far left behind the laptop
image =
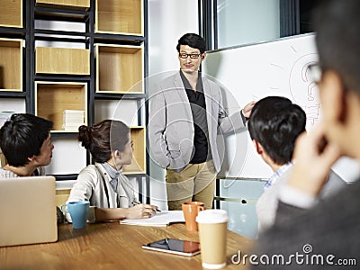
[(44, 175), (41, 166), (49, 165), (54, 148), (51, 128), (51, 121), (29, 113), (16, 113), (5, 121), (0, 148), (7, 164), (0, 168), (0, 178)]

